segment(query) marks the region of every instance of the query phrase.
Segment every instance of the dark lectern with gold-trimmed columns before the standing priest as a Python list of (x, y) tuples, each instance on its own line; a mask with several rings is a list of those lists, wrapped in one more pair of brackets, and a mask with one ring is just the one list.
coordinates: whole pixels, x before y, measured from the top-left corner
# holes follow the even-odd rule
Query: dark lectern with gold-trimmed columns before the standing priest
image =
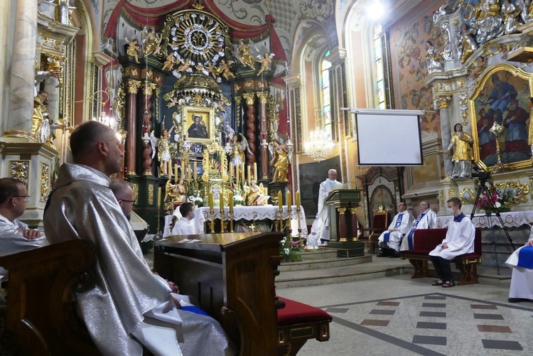
[(357, 257), (365, 254), (365, 244), (357, 241), (357, 216), (355, 209), (361, 203), (362, 190), (333, 190), (324, 205), (330, 219), (328, 247), (338, 249), (339, 257)]

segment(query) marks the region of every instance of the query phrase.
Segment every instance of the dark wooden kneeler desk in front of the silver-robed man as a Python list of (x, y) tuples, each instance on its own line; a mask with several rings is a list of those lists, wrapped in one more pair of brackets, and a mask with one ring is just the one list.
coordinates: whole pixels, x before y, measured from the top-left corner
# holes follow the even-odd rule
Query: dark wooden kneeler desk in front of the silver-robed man
[[(170, 236), (156, 242), (154, 267), (217, 319), (239, 355), (276, 355), (274, 277), (281, 232)], [(187, 242), (197, 239), (197, 242)]]

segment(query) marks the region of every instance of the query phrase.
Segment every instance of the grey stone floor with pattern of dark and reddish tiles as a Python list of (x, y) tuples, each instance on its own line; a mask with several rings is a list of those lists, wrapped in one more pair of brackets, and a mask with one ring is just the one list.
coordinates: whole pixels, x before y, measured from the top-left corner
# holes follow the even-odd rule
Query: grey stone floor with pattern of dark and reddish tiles
[(308, 340), (299, 356), (533, 355), (533, 303), (507, 303), (505, 286), (431, 281), (402, 274), (277, 293), (333, 316), (330, 340)]

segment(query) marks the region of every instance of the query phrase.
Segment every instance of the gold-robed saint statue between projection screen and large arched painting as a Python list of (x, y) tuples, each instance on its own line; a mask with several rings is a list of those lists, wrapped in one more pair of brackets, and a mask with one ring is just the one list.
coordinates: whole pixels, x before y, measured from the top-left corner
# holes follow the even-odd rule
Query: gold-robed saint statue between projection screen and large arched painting
[(455, 134), (451, 137), (448, 149), (444, 153), (449, 154), (453, 148), (453, 172), (452, 178), (470, 178), (472, 176), (472, 136), (463, 132), (463, 125), (453, 126)]

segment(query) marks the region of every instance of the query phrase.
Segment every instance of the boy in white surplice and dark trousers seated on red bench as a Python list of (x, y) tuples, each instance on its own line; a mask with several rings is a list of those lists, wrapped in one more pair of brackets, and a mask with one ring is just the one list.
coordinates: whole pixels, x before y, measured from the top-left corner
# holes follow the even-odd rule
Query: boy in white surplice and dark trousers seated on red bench
[(434, 286), (453, 287), (450, 260), (474, 252), (475, 227), (470, 217), (461, 212), (461, 200), (459, 198), (448, 199), (448, 210), (453, 211), (453, 220), (448, 224), (446, 238), (435, 249), (429, 252), (431, 262), (435, 267), (438, 279), (433, 282)]

